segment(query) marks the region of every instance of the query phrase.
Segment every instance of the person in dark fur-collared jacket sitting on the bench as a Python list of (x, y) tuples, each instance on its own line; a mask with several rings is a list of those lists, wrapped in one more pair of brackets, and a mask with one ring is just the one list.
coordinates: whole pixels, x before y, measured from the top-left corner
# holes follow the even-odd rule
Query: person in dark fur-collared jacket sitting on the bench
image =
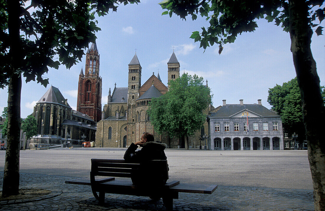
[[(136, 151), (138, 146), (142, 147), (142, 149)], [(165, 144), (154, 142), (154, 137), (150, 133), (143, 133), (140, 141), (131, 143), (124, 154), (124, 160), (140, 163), (140, 165), (144, 164), (140, 166), (140, 172), (131, 177), (133, 184), (144, 185), (146, 183), (148, 186), (151, 186), (152, 184), (162, 185), (166, 183), (167, 180), (163, 178), (162, 173), (159, 172), (160, 170), (145, 167), (145, 162), (148, 160), (167, 160), (163, 151), (165, 148)]]

